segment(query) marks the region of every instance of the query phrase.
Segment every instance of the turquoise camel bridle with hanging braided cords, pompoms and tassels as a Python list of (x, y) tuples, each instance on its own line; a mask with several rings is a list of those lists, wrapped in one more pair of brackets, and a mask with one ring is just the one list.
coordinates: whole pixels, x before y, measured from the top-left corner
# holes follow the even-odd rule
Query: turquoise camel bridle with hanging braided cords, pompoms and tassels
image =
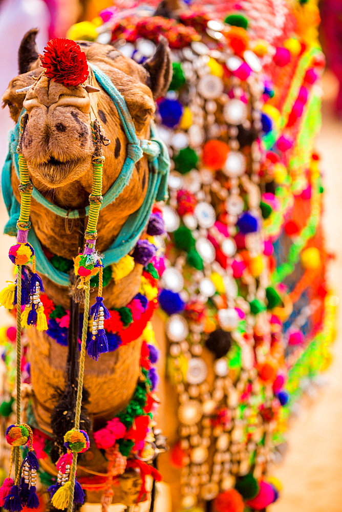
[[(48, 66), (51, 52), (55, 51), (60, 44), (63, 45), (63, 51), (66, 52), (68, 58), (71, 56), (76, 62), (80, 63), (82, 68), (81, 82), (76, 83), (74, 78), (73, 83), (68, 82), (69, 85), (79, 85), (88, 77), (88, 73), (84, 70), (84, 58), (86, 58), (86, 55), (84, 52), (80, 51), (78, 45), (73, 41), (66, 39), (50, 41), (48, 47), (45, 49), (45, 55), (40, 56), (42, 66), (45, 66), (45, 63)], [(74, 55), (76, 56), (74, 57)], [(169, 170), (168, 152), (166, 146), (157, 137), (154, 124), (151, 123), (151, 138), (149, 140), (138, 139), (131, 114), (123, 96), (116, 89), (110, 78), (100, 69), (94, 65), (90, 65), (90, 69), (99, 85), (112, 99), (119, 114), (128, 143), (127, 156), (119, 176), (108, 192), (102, 197), (104, 157), (102, 155), (101, 144), (104, 143), (107, 145), (107, 139), (101, 134), (98, 121), (91, 121), (95, 151), (92, 157), (92, 191), (89, 196), (90, 205), (86, 208), (86, 215), (89, 218), (84, 233), (86, 243), (84, 244), (83, 252), (76, 256), (74, 264), (76, 274), (75, 287), (77, 287), (78, 291), (81, 291), (84, 301), (75, 422), (74, 428), (65, 434), (64, 441), (67, 453), (62, 455), (57, 461), (57, 484), (53, 486), (54, 489), (51, 489), (51, 501), (53, 506), (58, 509), (68, 508), (68, 512), (71, 512), (74, 503), (83, 503), (85, 497), (81, 486), (76, 481), (76, 467), (77, 454), (83, 453), (89, 447), (87, 432), (79, 429), (89, 314), (91, 315), (93, 325), (92, 339), (90, 342), (90, 344), (93, 345), (91, 351), (97, 355), (108, 352), (103, 321), (109, 318), (110, 313), (105, 308), (102, 298), (102, 258), (105, 258), (106, 265), (111, 265), (118, 262), (134, 248), (142, 231), (147, 225), (154, 202), (167, 199), (167, 174)], [(63, 77), (60, 77), (56, 73), (51, 73), (51, 71), (48, 72), (48, 70), (45, 70), (45, 72), (47, 76), (55, 81), (67, 85), (65, 77), (63, 79)], [(33, 325), (41, 331), (47, 329), (44, 307), (39, 300), (39, 293), (40, 291), (44, 291), (44, 289), (42, 281), (36, 273), (36, 268), (41, 274), (46, 275), (57, 285), (70, 285), (69, 275), (57, 270), (51, 265), (42, 250), (34, 230), (30, 229), (31, 198), (33, 197), (53, 214), (65, 219), (75, 219), (79, 217), (78, 210), (69, 211), (50, 203), (31, 183), (27, 162), (21, 150), (21, 137), (24, 133), (27, 121), (28, 114), (24, 111), (11, 133), (10, 151), (2, 175), (3, 196), (10, 215), (10, 220), (7, 223), (5, 232), (14, 234), (15, 230), (17, 230), (17, 243), (10, 248), (9, 257), (17, 267), (18, 277), (16, 283), (10, 284), (0, 293), (0, 303), (3, 306), (13, 308), (13, 306), (16, 305), (17, 318), (16, 424), (11, 425), (6, 431), (7, 440), (12, 446), (11, 461), (12, 459), (15, 461), (15, 479), (13, 481), (9, 476), (0, 489), (0, 501), (2, 500), (4, 508), (11, 512), (19, 512), (22, 510), (23, 505), (26, 505), (28, 508), (36, 508), (38, 506), (38, 498), (35, 494), (35, 472), (38, 468), (38, 461), (32, 449), (32, 431), (28, 430), (29, 428), (26, 424), (21, 423), (20, 415), (21, 331), (23, 327), (31, 327)], [(98, 236), (97, 222), (100, 210), (115, 202), (120, 196), (124, 188), (130, 182), (135, 163), (142, 158), (143, 154), (147, 155), (149, 166), (153, 171), (149, 173), (147, 193), (143, 204), (129, 217), (122, 226), (115, 241), (104, 251), (103, 256), (100, 256), (95, 248)], [(12, 164), (14, 165), (15, 172), (20, 182), (20, 204), (14, 197), (10, 185)], [(14, 221), (16, 222), (16, 227)], [(29, 264), (32, 264), (32, 270), (27, 266)], [(90, 307), (90, 279), (96, 274), (99, 274), (98, 296), (96, 303)], [(23, 313), (22, 306), (25, 306)], [(88, 347), (88, 350), (89, 349)], [(29, 456), (20, 464), (19, 446), (25, 445), (28, 441), (30, 441)], [(21, 480), (20, 472), (22, 474)]]

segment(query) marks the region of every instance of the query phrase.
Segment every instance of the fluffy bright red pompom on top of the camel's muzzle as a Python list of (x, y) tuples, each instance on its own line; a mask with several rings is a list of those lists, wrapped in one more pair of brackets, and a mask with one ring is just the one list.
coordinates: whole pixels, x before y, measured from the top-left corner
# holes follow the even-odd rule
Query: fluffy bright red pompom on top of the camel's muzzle
[(89, 75), (86, 54), (70, 39), (51, 39), (39, 55), (45, 74), (66, 87), (79, 86)]

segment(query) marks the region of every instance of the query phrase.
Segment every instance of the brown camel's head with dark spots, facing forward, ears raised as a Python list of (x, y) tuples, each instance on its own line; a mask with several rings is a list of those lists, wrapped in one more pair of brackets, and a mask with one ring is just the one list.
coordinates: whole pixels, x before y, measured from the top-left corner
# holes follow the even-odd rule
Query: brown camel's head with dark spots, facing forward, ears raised
[[(33, 29), (24, 36), (19, 48), (20, 74), (10, 82), (3, 96), (15, 121), (23, 107), (28, 113), (22, 152), (30, 175), (40, 188), (56, 189), (78, 181), (87, 189), (94, 153), (91, 120), (98, 119), (111, 140), (109, 147), (104, 148), (110, 168), (110, 172), (104, 173), (105, 191), (118, 176), (126, 154), (127, 140), (115, 105), (91, 69), (86, 82), (77, 87), (66, 87), (49, 78), (41, 67), (36, 33)], [(166, 40), (160, 42), (155, 55), (144, 65), (112, 46), (77, 42), (88, 62), (108, 75), (123, 95), (137, 136), (148, 138), (154, 100), (167, 90), (172, 70)], [(20, 91), (28, 86), (31, 87), (27, 91)]]

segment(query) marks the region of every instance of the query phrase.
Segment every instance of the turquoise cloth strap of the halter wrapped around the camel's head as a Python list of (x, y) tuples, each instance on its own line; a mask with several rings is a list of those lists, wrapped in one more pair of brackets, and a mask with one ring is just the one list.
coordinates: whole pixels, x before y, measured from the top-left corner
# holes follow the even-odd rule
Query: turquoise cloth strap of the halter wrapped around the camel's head
[[(116, 198), (121, 194), (122, 190), (129, 183), (135, 163), (140, 160), (143, 153), (147, 155), (150, 170), (148, 176), (147, 193), (144, 198), (141, 207), (132, 214), (129, 219), (122, 226), (120, 233), (114, 242), (106, 249), (104, 254), (104, 264), (109, 266), (113, 263), (118, 262), (124, 255), (128, 254), (139, 240), (142, 231), (144, 230), (149, 216), (151, 215), (151, 209), (155, 201), (164, 201), (167, 199), (167, 175), (169, 170), (169, 156), (165, 144), (158, 138), (157, 131), (154, 123), (151, 123), (151, 139), (140, 140), (137, 138), (135, 133), (135, 127), (132, 117), (127, 109), (126, 102), (123, 96), (116, 89), (110, 78), (105, 75), (96, 66), (91, 65), (97, 82), (104, 89), (104, 91), (110, 96), (113, 103), (115, 104), (120, 120), (122, 122), (128, 144), (127, 144), (127, 157), (122, 166), (121, 172), (108, 190), (103, 196), (103, 203), (101, 208), (108, 206), (113, 203)], [(18, 176), (18, 155), (17, 155), (17, 144), (19, 140), (19, 122), (16, 124), (14, 130), (11, 133), (10, 140), (10, 151), (7, 156), (5, 165), (2, 173), (2, 189), (3, 197), (9, 212), (10, 219), (5, 226), (5, 233), (16, 235), (16, 221), (19, 217), (20, 206), (14, 197), (13, 189), (11, 187), (11, 167), (12, 162), (14, 164), (15, 172)], [(32, 197), (40, 204), (48, 208), (54, 214), (66, 218), (68, 210), (60, 208), (48, 201), (42, 196), (36, 188), (33, 187)], [(89, 206), (86, 208), (86, 215), (88, 215)], [(73, 210), (69, 213), (68, 218), (75, 219), (79, 217), (78, 210)], [(41, 244), (33, 230), (29, 231), (29, 242), (34, 247), (36, 252), (36, 267), (37, 270), (46, 275), (54, 283), (60, 286), (69, 286), (69, 276), (65, 272), (57, 270), (50, 261), (46, 258)]]

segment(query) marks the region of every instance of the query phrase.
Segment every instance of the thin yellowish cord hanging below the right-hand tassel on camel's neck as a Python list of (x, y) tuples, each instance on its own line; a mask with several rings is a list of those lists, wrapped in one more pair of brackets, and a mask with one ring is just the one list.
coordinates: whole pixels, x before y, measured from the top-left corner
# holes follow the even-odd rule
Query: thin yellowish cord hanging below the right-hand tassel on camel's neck
[[(86, 360), (86, 342), (87, 342), (87, 333), (88, 333), (89, 302), (90, 302), (90, 284), (88, 282), (87, 288), (86, 288), (86, 296), (84, 297), (82, 343), (81, 343), (81, 354), (79, 357), (78, 385), (77, 385), (75, 426), (74, 426), (74, 428), (76, 430), (79, 430), (79, 420), (81, 417), (83, 374), (84, 374), (84, 363)], [(76, 469), (77, 469), (77, 453), (73, 453), (71, 473), (70, 473), (70, 495), (69, 495), (68, 512), (72, 512), (73, 504), (74, 504)]]

